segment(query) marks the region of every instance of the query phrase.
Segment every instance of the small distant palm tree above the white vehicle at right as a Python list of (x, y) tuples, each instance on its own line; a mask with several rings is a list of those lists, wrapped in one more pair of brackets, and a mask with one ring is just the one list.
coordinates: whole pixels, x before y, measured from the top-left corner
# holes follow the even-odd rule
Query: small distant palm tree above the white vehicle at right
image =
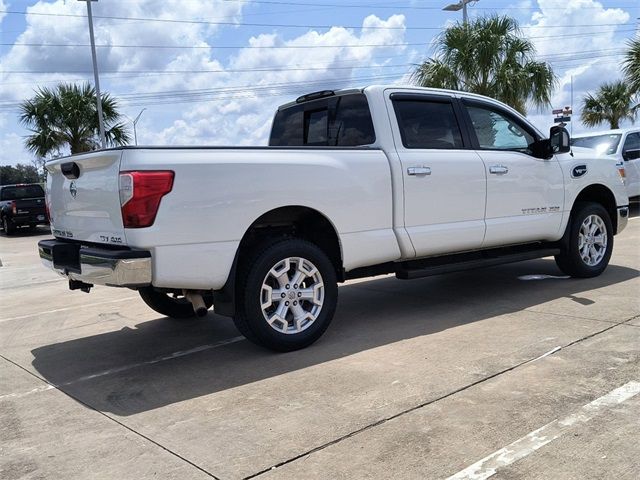
[(636, 109), (633, 107), (633, 93), (622, 80), (603, 83), (595, 96), (588, 93), (582, 99), (582, 123), (595, 127), (609, 122), (610, 128), (620, 128), (620, 121), (633, 122)]

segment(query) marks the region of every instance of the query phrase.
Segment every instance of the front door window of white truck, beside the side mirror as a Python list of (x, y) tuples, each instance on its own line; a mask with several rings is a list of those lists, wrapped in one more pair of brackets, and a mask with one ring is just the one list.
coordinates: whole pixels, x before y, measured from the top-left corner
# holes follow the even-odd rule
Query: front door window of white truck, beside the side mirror
[(511, 116), (477, 105), (467, 105), (467, 112), (481, 149), (532, 153), (535, 138)]

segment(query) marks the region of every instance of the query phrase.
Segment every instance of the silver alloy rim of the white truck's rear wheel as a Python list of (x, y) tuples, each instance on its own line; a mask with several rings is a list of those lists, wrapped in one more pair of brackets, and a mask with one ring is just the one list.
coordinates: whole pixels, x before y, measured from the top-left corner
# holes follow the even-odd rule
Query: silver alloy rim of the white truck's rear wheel
[(322, 275), (312, 262), (301, 257), (285, 258), (264, 277), (262, 315), (280, 333), (300, 333), (317, 320), (324, 294)]

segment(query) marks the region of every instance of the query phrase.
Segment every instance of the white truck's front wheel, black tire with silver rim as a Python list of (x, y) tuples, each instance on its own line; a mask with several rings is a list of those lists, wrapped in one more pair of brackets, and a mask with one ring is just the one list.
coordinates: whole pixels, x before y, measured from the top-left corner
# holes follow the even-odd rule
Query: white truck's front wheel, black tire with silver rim
[(607, 210), (599, 203), (579, 203), (567, 228), (568, 238), (555, 257), (560, 270), (577, 278), (604, 272), (613, 251), (613, 226)]

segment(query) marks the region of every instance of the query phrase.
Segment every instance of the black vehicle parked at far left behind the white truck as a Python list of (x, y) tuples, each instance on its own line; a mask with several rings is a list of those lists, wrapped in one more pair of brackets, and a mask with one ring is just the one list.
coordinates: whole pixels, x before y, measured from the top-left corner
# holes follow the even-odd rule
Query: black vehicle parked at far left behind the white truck
[(49, 223), (44, 189), (37, 183), (0, 186), (0, 225), (5, 235), (18, 227), (35, 228)]

